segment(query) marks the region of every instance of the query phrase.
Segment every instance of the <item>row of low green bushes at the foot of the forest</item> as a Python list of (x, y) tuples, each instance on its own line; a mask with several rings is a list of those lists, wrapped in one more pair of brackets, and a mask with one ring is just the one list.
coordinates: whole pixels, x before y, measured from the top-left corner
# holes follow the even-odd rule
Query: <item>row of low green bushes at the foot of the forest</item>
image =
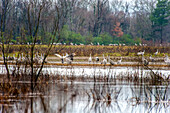
[(94, 37), (92, 34), (82, 36), (80, 33), (70, 31), (68, 26), (63, 26), (61, 30), (61, 43), (62, 44), (94, 44), (94, 45), (109, 45), (109, 44), (127, 44), (134, 45), (141, 43), (139, 38), (132, 38), (131, 35), (124, 34), (121, 37), (113, 37), (109, 33), (101, 33)]

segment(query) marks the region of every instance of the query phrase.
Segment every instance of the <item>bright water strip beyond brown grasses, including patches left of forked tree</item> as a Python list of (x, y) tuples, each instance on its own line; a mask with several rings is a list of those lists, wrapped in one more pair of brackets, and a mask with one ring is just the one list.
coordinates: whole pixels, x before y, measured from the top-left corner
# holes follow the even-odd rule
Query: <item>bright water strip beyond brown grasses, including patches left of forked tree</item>
[[(20, 67), (22, 70), (24, 67)], [(12, 72), (15, 69), (14, 65), (9, 65), (9, 70)], [(162, 67), (162, 68), (151, 68), (155, 73), (162, 73), (165, 75), (170, 75), (170, 68), (169, 67)], [(50, 74), (60, 74), (60, 75), (72, 75), (80, 76), (80, 75), (87, 75), (87, 76), (94, 76), (94, 75), (108, 75), (108, 74), (115, 74), (118, 75), (120, 73), (145, 73), (150, 72), (150, 70), (143, 68), (143, 67), (110, 67), (110, 66), (56, 66), (56, 65), (48, 65), (44, 66), (44, 72), (48, 72)], [(6, 73), (6, 69), (4, 65), (0, 65), (0, 73)], [(141, 75), (141, 74), (140, 74)]]

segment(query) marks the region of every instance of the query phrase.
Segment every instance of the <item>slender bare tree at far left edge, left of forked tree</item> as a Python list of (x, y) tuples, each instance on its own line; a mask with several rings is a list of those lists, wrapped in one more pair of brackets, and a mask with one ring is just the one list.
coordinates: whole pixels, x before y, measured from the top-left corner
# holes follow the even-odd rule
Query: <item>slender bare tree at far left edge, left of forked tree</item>
[[(9, 68), (8, 68), (8, 53), (9, 53), (9, 42), (11, 40), (11, 35), (12, 35), (12, 30), (7, 31), (7, 23), (10, 21), (9, 15), (10, 15), (10, 10), (12, 8), (11, 5), (12, 0), (2, 0), (0, 2), (0, 38), (2, 41), (2, 57), (3, 57), (3, 62), (7, 71), (7, 77), (8, 81), (10, 81), (10, 73), (9, 73)], [(8, 35), (8, 33), (10, 35)], [(8, 44), (5, 46), (5, 43)]]

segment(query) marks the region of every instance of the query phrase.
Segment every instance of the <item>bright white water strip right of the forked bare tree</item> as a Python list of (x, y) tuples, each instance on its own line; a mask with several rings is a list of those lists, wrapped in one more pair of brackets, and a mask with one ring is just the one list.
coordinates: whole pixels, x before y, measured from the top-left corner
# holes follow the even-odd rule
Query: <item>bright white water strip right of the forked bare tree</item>
[[(143, 77), (150, 73), (150, 70), (145, 69), (143, 67), (81, 67), (81, 66), (48, 66), (43, 69), (44, 72), (48, 72), (51, 74), (59, 74), (66, 76), (109, 76), (109, 75), (127, 75), (138, 73), (139, 77)], [(168, 76), (170, 75), (169, 68), (160, 68), (160, 69), (152, 69), (155, 73), (161, 73), (162, 75)]]

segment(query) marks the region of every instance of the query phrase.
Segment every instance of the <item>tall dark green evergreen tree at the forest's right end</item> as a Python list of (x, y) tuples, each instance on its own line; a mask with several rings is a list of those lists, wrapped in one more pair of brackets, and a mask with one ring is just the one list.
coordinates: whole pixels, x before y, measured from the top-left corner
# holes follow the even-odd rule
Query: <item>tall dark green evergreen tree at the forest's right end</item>
[(152, 21), (153, 34), (156, 32), (160, 34), (161, 43), (163, 42), (163, 28), (169, 23), (169, 16), (170, 2), (168, 0), (158, 0), (150, 19)]

